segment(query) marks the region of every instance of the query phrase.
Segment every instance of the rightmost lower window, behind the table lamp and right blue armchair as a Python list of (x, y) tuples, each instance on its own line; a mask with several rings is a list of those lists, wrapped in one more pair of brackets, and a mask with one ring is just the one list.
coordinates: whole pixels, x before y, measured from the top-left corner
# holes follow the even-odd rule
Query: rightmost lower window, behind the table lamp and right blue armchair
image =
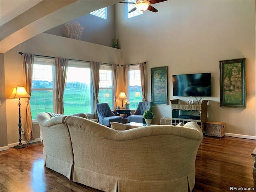
[(138, 103), (142, 101), (140, 68), (138, 65), (131, 65), (128, 68), (129, 86), (128, 98), (130, 100), (130, 108), (136, 109)]

